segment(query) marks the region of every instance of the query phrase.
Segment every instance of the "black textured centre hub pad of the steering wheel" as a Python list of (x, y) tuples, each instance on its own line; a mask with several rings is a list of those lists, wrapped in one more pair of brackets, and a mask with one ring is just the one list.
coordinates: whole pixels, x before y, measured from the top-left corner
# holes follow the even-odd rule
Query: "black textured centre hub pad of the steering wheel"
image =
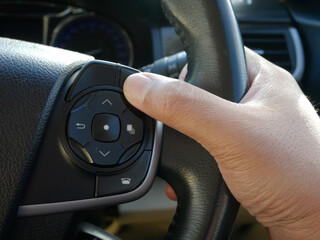
[(11, 238), (59, 89), (90, 60), (84, 54), (0, 38), (0, 239)]

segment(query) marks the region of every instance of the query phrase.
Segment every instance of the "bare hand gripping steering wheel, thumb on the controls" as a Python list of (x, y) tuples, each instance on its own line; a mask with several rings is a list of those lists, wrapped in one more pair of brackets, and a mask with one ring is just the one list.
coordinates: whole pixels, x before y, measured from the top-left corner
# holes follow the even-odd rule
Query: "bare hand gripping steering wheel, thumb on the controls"
[(271, 239), (320, 239), (319, 117), (288, 72), (249, 49), (246, 57), (250, 89), (240, 103), (150, 73), (130, 76), (124, 93), (206, 148)]

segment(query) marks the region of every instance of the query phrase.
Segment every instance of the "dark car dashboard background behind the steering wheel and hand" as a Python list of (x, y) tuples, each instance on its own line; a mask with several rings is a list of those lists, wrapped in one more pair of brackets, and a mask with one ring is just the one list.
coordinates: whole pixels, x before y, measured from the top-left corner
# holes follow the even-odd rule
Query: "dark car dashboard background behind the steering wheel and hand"
[[(319, 1), (232, 0), (232, 4), (244, 45), (291, 72), (311, 100), (319, 103)], [(135, 68), (183, 51), (159, 0), (1, 1), (0, 36)], [(143, 222), (154, 212), (162, 213), (157, 221), (170, 219), (176, 203), (165, 197), (164, 185), (157, 179), (145, 197), (119, 206), (118, 220)]]

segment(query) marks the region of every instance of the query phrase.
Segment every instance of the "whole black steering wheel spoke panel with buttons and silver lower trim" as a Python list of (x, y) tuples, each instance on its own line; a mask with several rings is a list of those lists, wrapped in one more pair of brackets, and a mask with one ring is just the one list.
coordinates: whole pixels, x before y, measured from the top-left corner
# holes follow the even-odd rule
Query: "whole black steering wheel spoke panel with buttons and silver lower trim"
[(22, 201), (25, 216), (110, 206), (148, 191), (162, 126), (124, 97), (123, 82), (136, 72), (91, 61), (63, 84)]

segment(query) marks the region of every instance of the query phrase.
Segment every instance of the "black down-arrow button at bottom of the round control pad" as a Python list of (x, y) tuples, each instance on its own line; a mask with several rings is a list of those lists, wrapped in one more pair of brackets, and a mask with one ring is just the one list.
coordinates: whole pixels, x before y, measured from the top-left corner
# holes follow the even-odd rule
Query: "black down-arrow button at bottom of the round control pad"
[(119, 142), (90, 142), (85, 146), (94, 164), (101, 166), (116, 165), (125, 149)]

